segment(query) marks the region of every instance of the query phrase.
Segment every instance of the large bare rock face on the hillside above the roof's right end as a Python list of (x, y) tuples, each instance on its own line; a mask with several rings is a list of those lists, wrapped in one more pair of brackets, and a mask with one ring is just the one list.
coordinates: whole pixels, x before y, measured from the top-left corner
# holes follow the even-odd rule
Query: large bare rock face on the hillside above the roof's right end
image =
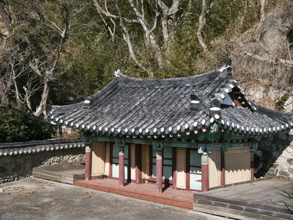
[[(292, 43), (292, 29), (293, 4), (288, 3), (282, 11), (270, 14), (264, 22), (255, 25), (251, 30), (230, 42), (230, 48), (233, 48), (232, 60), (233, 62), (237, 60), (234, 64), (237, 66), (234, 74), (237, 75), (238, 81), (244, 82), (240, 86), (251, 100), (259, 102), (267, 97), (271, 100), (278, 99), (288, 92), (286, 88), (289, 88), (293, 94), (293, 77), (290, 67), (281, 64), (272, 53), (273, 51), (285, 62), (289, 60), (285, 42), (289, 40)], [(292, 46), (290, 51), (292, 53)], [(251, 75), (249, 80), (248, 72)], [(284, 105), (285, 111), (293, 109), (292, 101), (292, 98), (287, 100)]]

